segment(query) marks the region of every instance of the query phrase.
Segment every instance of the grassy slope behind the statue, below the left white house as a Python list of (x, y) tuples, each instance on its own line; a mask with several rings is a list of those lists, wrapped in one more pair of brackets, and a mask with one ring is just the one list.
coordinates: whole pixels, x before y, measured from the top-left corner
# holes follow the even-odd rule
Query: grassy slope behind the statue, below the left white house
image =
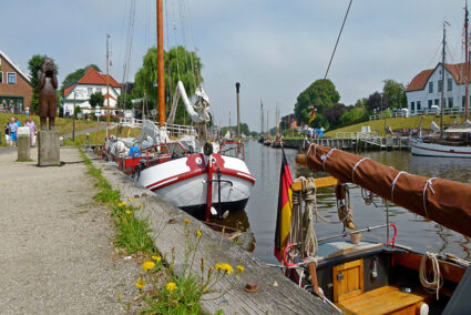
[[(6, 145), (4, 140), (4, 125), (10, 122), (10, 119), (12, 116), (17, 116), (21, 125), (24, 125), (24, 122), (27, 118), (32, 118), (34, 123), (37, 124), (39, 129), (39, 116), (37, 115), (16, 115), (11, 113), (0, 113), (0, 126), (1, 126), (1, 136), (2, 136), (2, 145)], [(83, 120), (75, 120), (75, 131), (79, 132), (81, 130), (86, 130), (90, 128), (99, 126), (100, 123), (98, 122), (89, 122)], [(62, 118), (55, 118), (55, 130), (59, 132), (60, 135), (68, 134), (72, 132), (72, 120), (71, 119), (62, 119)]]

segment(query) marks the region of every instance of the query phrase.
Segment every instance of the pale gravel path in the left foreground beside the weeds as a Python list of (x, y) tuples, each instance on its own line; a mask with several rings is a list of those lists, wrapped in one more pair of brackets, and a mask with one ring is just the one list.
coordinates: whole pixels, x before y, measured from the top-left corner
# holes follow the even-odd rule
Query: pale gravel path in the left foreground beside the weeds
[[(35, 149), (31, 156), (35, 159)], [(83, 163), (37, 167), (0, 154), (0, 313), (120, 314), (140, 274), (112, 245), (109, 211)], [(81, 161), (61, 149), (64, 162)]]

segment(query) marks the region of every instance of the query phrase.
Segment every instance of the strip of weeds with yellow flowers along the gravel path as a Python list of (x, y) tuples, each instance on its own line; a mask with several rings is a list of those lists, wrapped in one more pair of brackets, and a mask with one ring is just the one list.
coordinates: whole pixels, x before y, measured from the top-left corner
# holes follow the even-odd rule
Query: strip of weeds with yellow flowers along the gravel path
[[(183, 227), (186, 248), (177, 248), (185, 253), (185, 261), (177, 276), (174, 271), (174, 252), (171, 257), (162, 256), (149, 236), (152, 233), (155, 238), (158, 238), (167, 224), (174, 222), (163, 223), (157, 227), (158, 231), (151, 230), (147, 220), (141, 220), (136, 215), (142, 207), (145, 207), (143, 204), (133, 205), (139, 202), (139, 195), (123, 201), (121, 192), (113, 189), (101, 170), (93, 166), (83, 151), (81, 155), (89, 169), (89, 174), (96, 180), (95, 186), (100, 190), (94, 199), (111, 210), (111, 217), (116, 230), (115, 246), (126, 254), (144, 258), (141, 266), (142, 273), (135, 283), (140, 295), (134, 297), (133, 302), (123, 302), (119, 296), (127, 313), (131, 313), (132, 306), (136, 303), (141, 305), (137, 311), (141, 314), (205, 314), (201, 307), (201, 301), (205, 294), (215, 292), (214, 286), (217, 282), (228, 276), (234, 284), (238, 283), (238, 274), (244, 273), (242, 265), (233, 268), (229, 264), (217, 263), (214, 267), (207, 268), (203, 257), (199, 262), (195, 260), (195, 254), (202, 251), (199, 244), (203, 235), (201, 231), (190, 228), (188, 219), (184, 220)], [(197, 264), (201, 272), (193, 270), (193, 266)], [(219, 292), (219, 296), (232, 288), (233, 286)]]

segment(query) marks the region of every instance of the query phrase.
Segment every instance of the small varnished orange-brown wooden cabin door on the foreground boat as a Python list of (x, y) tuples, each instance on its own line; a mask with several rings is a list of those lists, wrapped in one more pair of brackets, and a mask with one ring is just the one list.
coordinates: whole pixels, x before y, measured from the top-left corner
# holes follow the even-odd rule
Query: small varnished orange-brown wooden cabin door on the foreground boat
[[(340, 281), (339, 275), (344, 278)], [(364, 293), (364, 260), (332, 267), (334, 302), (344, 301)]]

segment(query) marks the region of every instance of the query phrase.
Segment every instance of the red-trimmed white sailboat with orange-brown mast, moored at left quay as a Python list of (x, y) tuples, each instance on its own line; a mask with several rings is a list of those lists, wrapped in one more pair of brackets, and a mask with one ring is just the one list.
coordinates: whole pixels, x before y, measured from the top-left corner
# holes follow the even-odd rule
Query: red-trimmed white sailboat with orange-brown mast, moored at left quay
[[(223, 219), (245, 207), (255, 177), (244, 161), (243, 143), (207, 141), (209, 100), (201, 87), (192, 104), (180, 81), (165, 121), (162, 12), (162, 0), (157, 0), (158, 123), (144, 120), (136, 139), (110, 138), (106, 156), (137, 183), (190, 214), (206, 221), (212, 215)], [(168, 131), (180, 98), (194, 129), (188, 126), (187, 135), (172, 141)]]

